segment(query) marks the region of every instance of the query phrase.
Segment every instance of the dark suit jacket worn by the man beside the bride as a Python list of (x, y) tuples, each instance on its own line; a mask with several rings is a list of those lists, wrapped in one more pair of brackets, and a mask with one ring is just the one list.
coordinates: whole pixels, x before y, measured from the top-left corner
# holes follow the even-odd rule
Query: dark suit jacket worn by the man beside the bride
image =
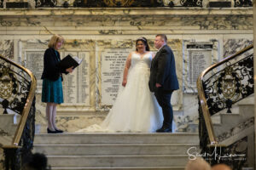
[(160, 48), (160, 51), (152, 59), (148, 83), (151, 92), (157, 90), (156, 82), (160, 83), (166, 92), (178, 89), (175, 59), (172, 49), (167, 45)]

